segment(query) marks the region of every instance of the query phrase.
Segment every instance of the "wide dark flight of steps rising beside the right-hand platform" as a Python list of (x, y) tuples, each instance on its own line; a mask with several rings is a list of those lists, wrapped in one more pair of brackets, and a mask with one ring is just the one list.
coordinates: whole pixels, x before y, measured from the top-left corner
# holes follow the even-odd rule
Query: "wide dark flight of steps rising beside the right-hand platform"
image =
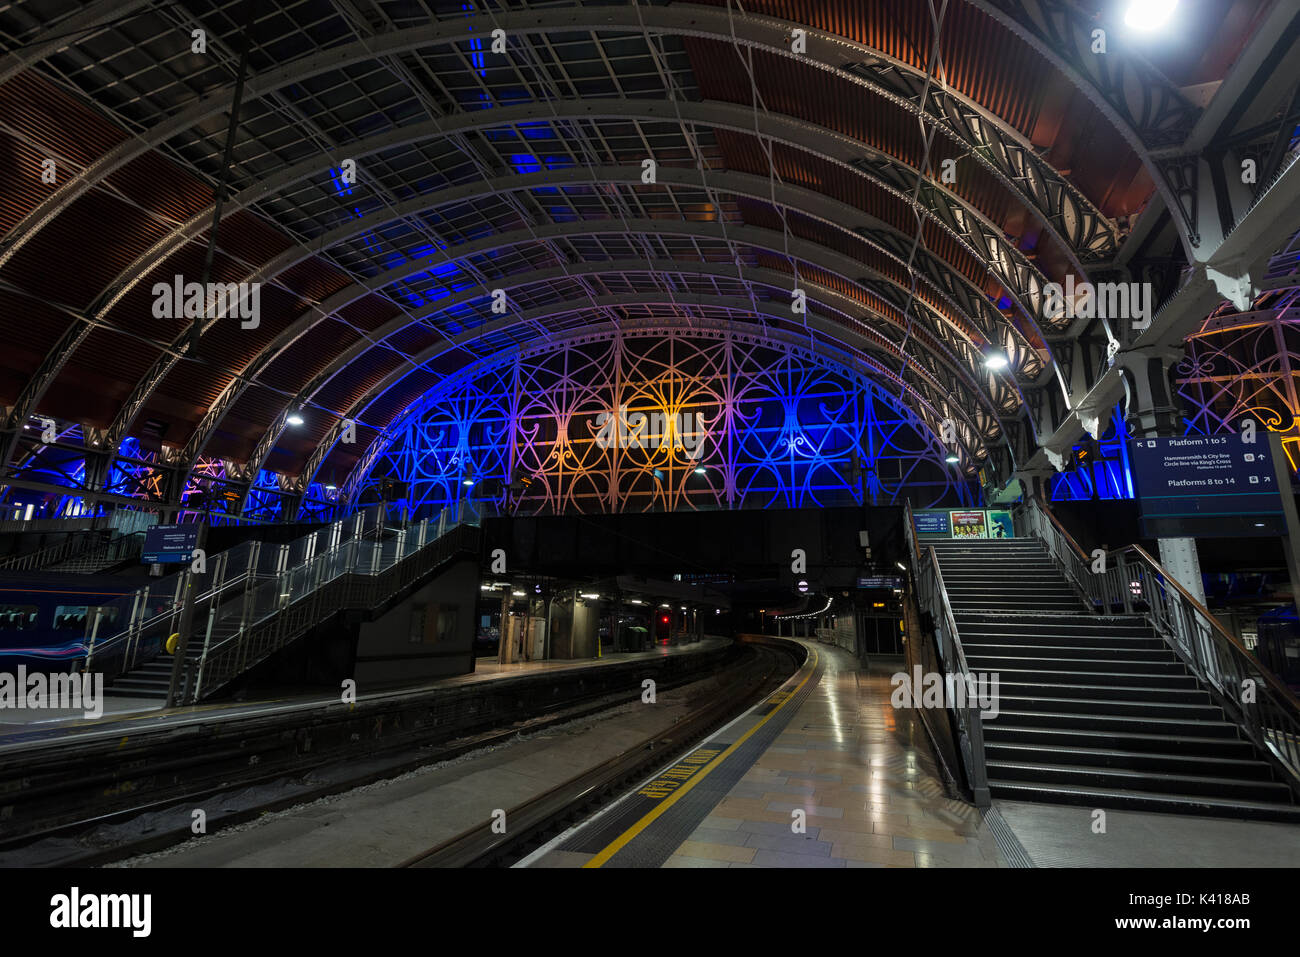
[(933, 544), (994, 798), (1300, 822), (1300, 806), (1145, 618), (1089, 614), (1036, 538)]

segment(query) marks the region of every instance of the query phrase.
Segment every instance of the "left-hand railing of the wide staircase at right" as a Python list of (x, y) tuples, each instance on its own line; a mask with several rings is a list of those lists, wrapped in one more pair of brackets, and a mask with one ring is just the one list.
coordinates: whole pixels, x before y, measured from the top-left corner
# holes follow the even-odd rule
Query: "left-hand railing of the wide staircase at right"
[[(953, 606), (948, 598), (948, 588), (944, 584), (944, 573), (939, 568), (939, 557), (935, 546), (922, 546), (916, 534), (916, 525), (913, 520), (911, 502), (905, 506), (904, 533), (907, 538), (907, 549), (911, 553), (916, 568), (916, 602), (920, 610), (930, 615), (933, 622), (933, 649), (937, 651), (939, 663), (944, 670), (945, 689), (957, 681), (966, 688), (968, 694), (962, 703), (954, 702), (948, 713), (953, 716), (957, 727), (957, 745), (962, 765), (966, 771), (966, 783), (974, 797), (975, 805), (987, 807), (991, 804), (988, 789), (988, 765), (984, 757), (984, 724), (980, 718), (980, 707), (975, 701), (974, 689), (976, 687), (975, 675), (966, 662), (966, 651), (957, 632), (957, 619), (953, 616)], [(926, 640), (927, 636), (919, 636)], [(924, 655), (930, 657), (930, 655)], [(920, 689), (914, 689), (920, 694)]]

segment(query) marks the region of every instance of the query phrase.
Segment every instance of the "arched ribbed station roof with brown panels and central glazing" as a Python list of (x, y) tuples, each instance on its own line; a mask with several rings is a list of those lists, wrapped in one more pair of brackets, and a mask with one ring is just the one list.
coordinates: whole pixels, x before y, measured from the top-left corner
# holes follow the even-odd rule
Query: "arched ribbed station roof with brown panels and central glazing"
[[(342, 484), (486, 356), (707, 317), (887, 371), (974, 475), (1069, 389), (1046, 283), (1188, 263), (1160, 163), (1277, 5), (1184, 5), (1141, 47), (1109, 0), (10, 4), (5, 425)], [(255, 328), (155, 315), (209, 244)]]

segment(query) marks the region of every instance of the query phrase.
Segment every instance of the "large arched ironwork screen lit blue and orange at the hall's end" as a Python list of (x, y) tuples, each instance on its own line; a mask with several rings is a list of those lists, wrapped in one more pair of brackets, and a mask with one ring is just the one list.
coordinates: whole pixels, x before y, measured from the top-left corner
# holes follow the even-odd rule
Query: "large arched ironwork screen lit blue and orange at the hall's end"
[[(602, 416), (664, 430), (602, 436)], [(702, 423), (702, 430), (681, 423)], [(679, 434), (685, 432), (686, 434)], [(430, 514), (515, 484), (520, 514), (972, 505), (933, 430), (846, 364), (759, 335), (656, 328), (482, 360), (407, 410), (347, 492)]]

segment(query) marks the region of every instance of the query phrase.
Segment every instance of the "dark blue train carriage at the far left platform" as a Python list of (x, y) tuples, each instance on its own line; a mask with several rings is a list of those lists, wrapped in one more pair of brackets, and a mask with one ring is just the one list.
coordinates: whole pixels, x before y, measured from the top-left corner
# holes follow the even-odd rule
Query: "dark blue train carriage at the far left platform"
[(0, 573), (0, 671), (78, 671), (86, 659), (95, 615), (99, 636), (125, 627), (122, 599), (139, 588), (134, 579), (56, 572)]

